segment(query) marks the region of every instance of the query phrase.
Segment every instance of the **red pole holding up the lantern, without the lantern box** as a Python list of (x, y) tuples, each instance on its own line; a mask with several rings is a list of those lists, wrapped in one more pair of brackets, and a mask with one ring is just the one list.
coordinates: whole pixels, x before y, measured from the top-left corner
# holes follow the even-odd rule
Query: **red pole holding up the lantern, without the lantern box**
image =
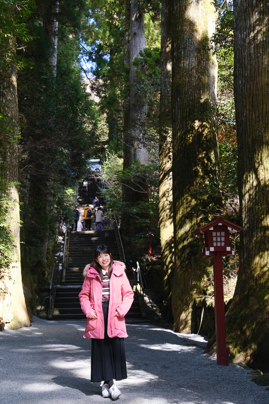
[(215, 327), (217, 342), (217, 364), (227, 366), (227, 355), (230, 348), (226, 346), (225, 310), (223, 290), (223, 264), (222, 255), (216, 252), (213, 257), (214, 296), (215, 296)]

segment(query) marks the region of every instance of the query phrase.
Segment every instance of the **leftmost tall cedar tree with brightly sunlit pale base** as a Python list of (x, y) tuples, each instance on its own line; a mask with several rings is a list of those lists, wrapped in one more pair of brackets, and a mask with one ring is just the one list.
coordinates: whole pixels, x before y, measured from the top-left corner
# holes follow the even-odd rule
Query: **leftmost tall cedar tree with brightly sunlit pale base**
[[(6, 121), (4, 134), (0, 143), (0, 175), (1, 187), (7, 185), (6, 193), (13, 201), (8, 215), (8, 223), (2, 224), (4, 231), (11, 233), (13, 243), (13, 257), (10, 267), (0, 265), (0, 330), (8, 323), (8, 328), (16, 329), (31, 325), (25, 305), (23, 294), (21, 259), (20, 259), (20, 206), (18, 190), (18, 102), (16, 77), (16, 39), (13, 27), (15, 22), (15, 4), (0, 5), (0, 16), (4, 18), (2, 34), (0, 37), (0, 96), (1, 118)], [(3, 21), (3, 19), (1, 19)], [(6, 35), (5, 35), (6, 34)], [(3, 192), (3, 188), (2, 188)], [(1, 195), (3, 197), (3, 195)], [(3, 201), (3, 199), (2, 199)], [(1, 237), (2, 238), (2, 237)], [(1, 239), (1, 259), (3, 240)]]

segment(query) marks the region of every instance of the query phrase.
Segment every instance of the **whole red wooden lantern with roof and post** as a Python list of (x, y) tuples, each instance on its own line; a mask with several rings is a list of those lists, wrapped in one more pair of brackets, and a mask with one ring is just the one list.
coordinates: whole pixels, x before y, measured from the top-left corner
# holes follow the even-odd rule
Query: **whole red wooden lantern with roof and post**
[(241, 226), (235, 225), (223, 216), (218, 216), (193, 232), (194, 235), (204, 234), (205, 248), (202, 249), (201, 256), (213, 258), (217, 364), (222, 366), (228, 365), (230, 354), (230, 348), (226, 346), (222, 258), (234, 255), (234, 249), (229, 245), (230, 232), (240, 230)]

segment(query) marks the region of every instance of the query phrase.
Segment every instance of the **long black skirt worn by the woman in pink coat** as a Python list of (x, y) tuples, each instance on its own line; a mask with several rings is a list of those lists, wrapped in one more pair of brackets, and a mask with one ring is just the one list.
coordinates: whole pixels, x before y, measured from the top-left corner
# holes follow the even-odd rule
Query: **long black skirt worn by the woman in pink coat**
[(104, 339), (91, 338), (91, 382), (127, 379), (124, 338), (107, 335), (109, 302), (102, 309)]

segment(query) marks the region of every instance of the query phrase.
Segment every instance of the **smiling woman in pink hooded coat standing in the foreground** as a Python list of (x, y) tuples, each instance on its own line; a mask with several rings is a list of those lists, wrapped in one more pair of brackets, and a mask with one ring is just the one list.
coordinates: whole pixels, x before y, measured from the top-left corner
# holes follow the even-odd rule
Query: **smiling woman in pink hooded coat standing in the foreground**
[(133, 301), (133, 290), (125, 274), (125, 265), (113, 261), (110, 249), (98, 245), (93, 262), (83, 271), (79, 293), (86, 314), (84, 338), (91, 338), (91, 382), (103, 382), (102, 396), (116, 400), (121, 392), (114, 380), (127, 378), (124, 316)]

